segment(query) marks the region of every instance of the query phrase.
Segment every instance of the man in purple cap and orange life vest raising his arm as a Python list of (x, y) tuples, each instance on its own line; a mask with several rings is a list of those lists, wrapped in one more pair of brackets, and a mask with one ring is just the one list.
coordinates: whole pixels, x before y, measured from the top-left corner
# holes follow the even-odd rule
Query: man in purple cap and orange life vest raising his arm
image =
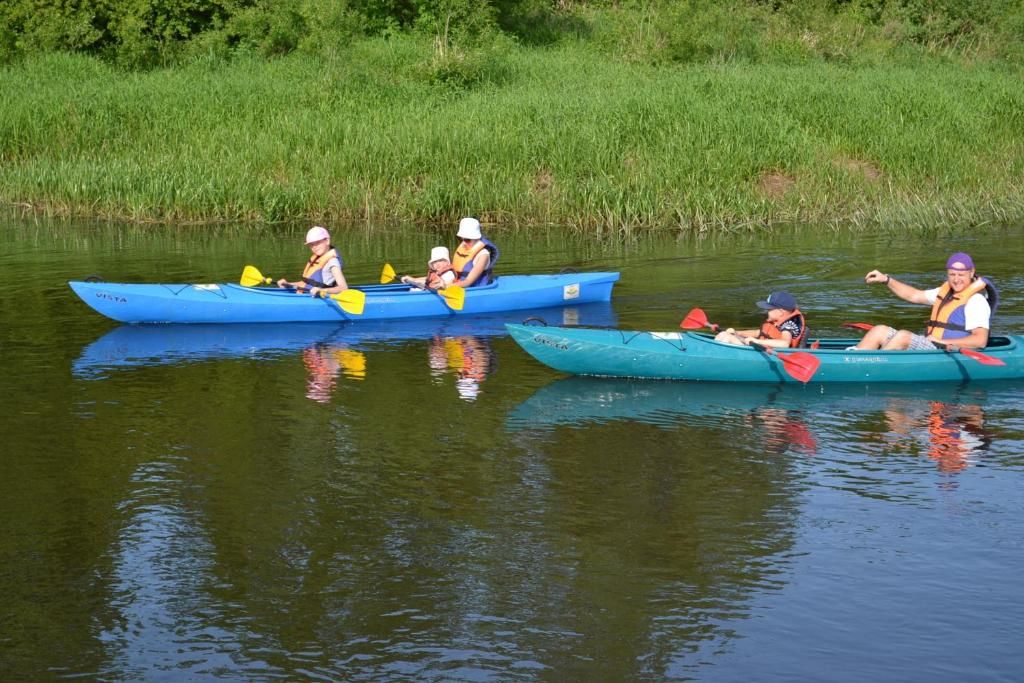
[(911, 351), (947, 345), (984, 348), (988, 343), (989, 319), (998, 302), (998, 293), (987, 278), (978, 278), (974, 261), (956, 252), (946, 261), (946, 282), (932, 290), (919, 290), (879, 270), (864, 275), (865, 283), (883, 283), (904, 301), (930, 305), (932, 314), (924, 335), (876, 325), (851, 349)]

